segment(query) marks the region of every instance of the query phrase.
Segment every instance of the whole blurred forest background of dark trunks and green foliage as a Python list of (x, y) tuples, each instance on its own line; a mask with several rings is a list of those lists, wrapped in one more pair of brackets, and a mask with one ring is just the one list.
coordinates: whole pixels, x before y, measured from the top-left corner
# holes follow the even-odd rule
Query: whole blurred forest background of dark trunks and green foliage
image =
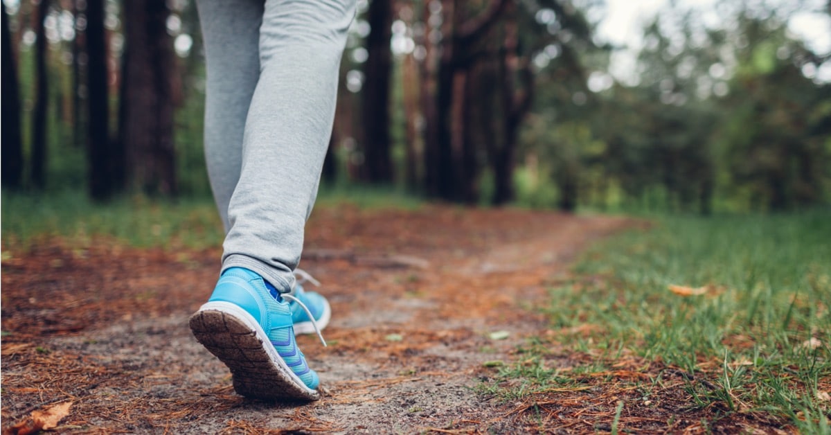
[[(689, 4), (622, 47), (599, 0), (361, 0), (324, 180), (562, 210), (831, 204), (831, 49), (794, 32), (831, 33), (831, 1)], [(210, 195), (194, 0), (2, 6), (3, 190)]]

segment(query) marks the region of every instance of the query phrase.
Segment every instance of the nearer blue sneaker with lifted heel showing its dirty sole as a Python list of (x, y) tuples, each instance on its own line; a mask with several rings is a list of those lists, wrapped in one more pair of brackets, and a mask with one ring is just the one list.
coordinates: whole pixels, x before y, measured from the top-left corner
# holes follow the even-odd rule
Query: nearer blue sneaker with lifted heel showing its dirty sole
[(317, 373), (308, 367), (294, 339), (288, 301), (297, 299), (270, 293), (263, 278), (251, 270), (227, 269), (208, 303), (190, 317), (190, 329), (231, 369), (237, 393), (270, 400), (317, 400)]

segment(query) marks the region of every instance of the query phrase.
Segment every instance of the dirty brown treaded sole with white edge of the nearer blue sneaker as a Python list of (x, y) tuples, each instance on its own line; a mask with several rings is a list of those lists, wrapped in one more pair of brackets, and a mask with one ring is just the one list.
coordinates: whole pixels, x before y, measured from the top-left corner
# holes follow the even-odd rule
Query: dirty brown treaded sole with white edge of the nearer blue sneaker
[(320, 393), (297, 378), (244, 309), (209, 302), (190, 316), (190, 330), (205, 348), (231, 370), (234, 390), (248, 398), (312, 401)]

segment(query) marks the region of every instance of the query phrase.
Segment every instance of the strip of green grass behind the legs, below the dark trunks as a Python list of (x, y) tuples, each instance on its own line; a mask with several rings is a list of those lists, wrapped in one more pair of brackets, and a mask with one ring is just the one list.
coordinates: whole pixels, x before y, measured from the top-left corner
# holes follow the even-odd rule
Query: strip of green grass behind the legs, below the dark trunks
[[(413, 210), (422, 202), (390, 189), (360, 186), (322, 187), (317, 206), (344, 203), (362, 209), (395, 207)], [(47, 191), (32, 195), (2, 192), (3, 250), (26, 250), (32, 243), (61, 237), (89, 245), (96, 236), (125, 245), (203, 249), (222, 244), (224, 231), (214, 200), (208, 196), (178, 200), (125, 195), (107, 204), (91, 201), (82, 190)]]

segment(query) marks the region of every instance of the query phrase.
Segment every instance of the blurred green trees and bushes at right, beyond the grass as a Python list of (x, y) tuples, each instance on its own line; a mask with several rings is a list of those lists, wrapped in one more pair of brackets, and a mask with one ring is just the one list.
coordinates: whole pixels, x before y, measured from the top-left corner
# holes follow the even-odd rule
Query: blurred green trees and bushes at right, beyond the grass
[[(631, 83), (587, 93), (564, 65), (538, 73), (523, 136), (541, 187), (599, 210), (794, 210), (831, 200), (831, 85), (789, 13), (718, 4), (725, 22), (674, 5), (644, 28)], [(731, 17), (731, 18), (727, 18)], [(602, 73), (597, 53), (580, 53)], [(812, 62), (814, 62), (812, 64)], [(587, 126), (588, 138), (574, 126)], [(595, 147), (591, 144), (599, 144)], [(519, 201), (534, 204), (518, 185)]]

